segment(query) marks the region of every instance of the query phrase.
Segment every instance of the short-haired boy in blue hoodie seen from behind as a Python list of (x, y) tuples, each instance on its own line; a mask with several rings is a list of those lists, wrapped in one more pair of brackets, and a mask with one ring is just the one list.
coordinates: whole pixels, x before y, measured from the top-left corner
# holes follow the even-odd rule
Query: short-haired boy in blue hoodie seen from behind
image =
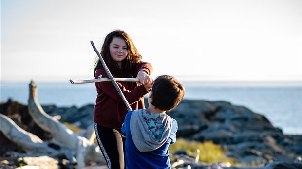
[(176, 141), (177, 121), (166, 115), (182, 101), (184, 86), (169, 75), (152, 84), (148, 109), (132, 110), (126, 115), (122, 133), (126, 135), (127, 169), (170, 169), (168, 147)]

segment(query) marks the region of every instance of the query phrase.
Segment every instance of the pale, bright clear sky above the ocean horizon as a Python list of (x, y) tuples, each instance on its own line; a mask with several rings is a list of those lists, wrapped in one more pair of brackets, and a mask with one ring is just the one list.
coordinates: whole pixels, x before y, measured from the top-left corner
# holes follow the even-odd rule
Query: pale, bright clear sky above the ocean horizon
[(126, 31), (152, 77), (301, 81), (301, 0), (1, 0), (0, 79), (93, 79), (105, 36)]

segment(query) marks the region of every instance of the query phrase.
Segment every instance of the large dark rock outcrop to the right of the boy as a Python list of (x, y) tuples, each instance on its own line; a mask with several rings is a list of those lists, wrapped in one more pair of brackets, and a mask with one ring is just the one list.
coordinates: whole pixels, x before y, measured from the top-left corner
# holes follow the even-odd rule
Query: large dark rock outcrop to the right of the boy
[(241, 161), (273, 161), (280, 155), (293, 161), (302, 155), (302, 135), (283, 135), (266, 117), (246, 107), (224, 101), (182, 101), (169, 115), (178, 121), (178, 137), (211, 140)]

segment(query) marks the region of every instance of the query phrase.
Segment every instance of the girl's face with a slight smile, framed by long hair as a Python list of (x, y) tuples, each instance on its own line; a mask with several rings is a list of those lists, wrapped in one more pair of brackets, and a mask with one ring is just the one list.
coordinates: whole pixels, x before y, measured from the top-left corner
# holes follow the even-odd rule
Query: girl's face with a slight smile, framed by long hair
[(122, 66), (122, 61), (128, 55), (128, 48), (125, 40), (119, 37), (114, 37), (112, 42), (109, 44), (109, 51), (112, 59), (118, 64), (118, 66)]

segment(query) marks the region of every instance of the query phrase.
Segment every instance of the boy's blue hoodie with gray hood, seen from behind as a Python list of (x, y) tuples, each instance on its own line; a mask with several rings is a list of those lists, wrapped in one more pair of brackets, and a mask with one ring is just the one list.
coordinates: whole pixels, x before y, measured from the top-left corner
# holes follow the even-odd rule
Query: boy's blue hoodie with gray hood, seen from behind
[(129, 111), (122, 126), (126, 135), (125, 159), (127, 169), (170, 169), (170, 144), (176, 141), (177, 121), (165, 114), (161, 140), (149, 130), (142, 110)]

